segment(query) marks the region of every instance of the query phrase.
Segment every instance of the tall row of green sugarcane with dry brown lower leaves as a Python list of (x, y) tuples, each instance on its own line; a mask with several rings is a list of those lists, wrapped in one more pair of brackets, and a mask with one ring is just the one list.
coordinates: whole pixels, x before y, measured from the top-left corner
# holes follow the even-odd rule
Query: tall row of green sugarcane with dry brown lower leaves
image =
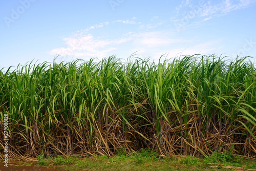
[[(256, 68), (250, 56), (28, 63), (0, 71), (9, 155), (256, 156)], [(4, 144), (0, 141), (0, 154)]]

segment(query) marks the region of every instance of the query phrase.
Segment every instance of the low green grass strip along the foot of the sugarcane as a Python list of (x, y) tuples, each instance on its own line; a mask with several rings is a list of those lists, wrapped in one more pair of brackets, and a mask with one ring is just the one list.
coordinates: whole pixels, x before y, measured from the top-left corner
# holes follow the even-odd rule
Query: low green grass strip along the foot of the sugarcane
[[(222, 156), (222, 157), (219, 157)], [(62, 162), (54, 163), (61, 158)], [(229, 158), (228, 162), (222, 160)], [(221, 159), (221, 160), (220, 160)], [(191, 156), (161, 157), (148, 149), (136, 152), (133, 155), (118, 154), (114, 157), (93, 156), (87, 158), (56, 157), (43, 159), (45, 165), (53, 168), (68, 170), (242, 170), (256, 169), (255, 159), (243, 159), (230, 156), (227, 153), (218, 153), (209, 158), (196, 158)], [(70, 163), (69, 161), (72, 161)], [(40, 161), (37, 162), (39, 165)], [(51, 164), (50, 164), (51, 163)], [(240, 167), (240, 169), (239, 169)]]

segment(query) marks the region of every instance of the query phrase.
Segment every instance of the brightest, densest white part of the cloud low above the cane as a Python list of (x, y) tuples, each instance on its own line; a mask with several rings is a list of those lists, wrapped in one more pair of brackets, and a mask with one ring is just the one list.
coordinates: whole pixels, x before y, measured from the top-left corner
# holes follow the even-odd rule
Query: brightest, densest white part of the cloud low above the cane
[[(100, 25), (94, 25), (94, 28), (99, 28)], [(93, 27), (90, 27), (93, 29)], [(159, 55), (161, 52), (158, 48), (167, 49), (170, 45), (189, 42), (181, 38), (173, 38), (174, 34), (170, 32), (154, 31), (154, 32), (143, 32), (143, 33), (124, 33), (119, 38), (105, 39), (104, 37), (95, 37), (86, 30), (80, 30), (73, 33), (69, 37), (63, 38), (66, 46), (56, 48), (50, 51), (51, 55), (62, 55), (62, 56), (88, 56), (88, 57), (105, 57), (111, 51), (117, 50), (117, 45), (124, 44), (130, 41), (130, 49), (135, 51), (151, 51), (155, 49), (158, 52), (152, 54)], [(156, 48), (155, 48), (156, 47)], [(134, 52), (135, 52), (134, 51)], [(160, 50), (161, 51), (161, 50)], [(165, 51), (166, 52), (166, 51)], [(165, 53), (162, 52), (162, 53)]]

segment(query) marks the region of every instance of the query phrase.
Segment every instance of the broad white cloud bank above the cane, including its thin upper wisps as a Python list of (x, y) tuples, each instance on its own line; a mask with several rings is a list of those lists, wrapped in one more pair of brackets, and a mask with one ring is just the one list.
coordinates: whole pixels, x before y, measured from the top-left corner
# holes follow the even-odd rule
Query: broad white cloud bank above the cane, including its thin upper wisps
[[(211, 16), (206, 17), (204, 20), (210, 18)], [(136, 17), (133, 17), (133, 19), (136, 19)], [(129, 23), (129, 20), (116, 20), (115, 22), (126, 24)], [(134, 21), (131, 20), (130, 22)], [(156, 25), (161, 24), (163, 24), (163, 22), (159, 22)], [(172, 32), (170, 30), (140, 33), (126, 32), (119, 35), (117, 38), (110, 38), (108, 36), (97, 37), (89, 33), (91, 29), (100, 29), (106, 25), (109, 25), (109, 22), (96, 24), (87, 29), (74, 32), (71, 36), (63, 38), (66, 44), (65, 46), (51, 50), (50, 54), (75, 57), (106, 57), (112, 53), (113, 50), (118, 51), (121, 47), (119, 45), (122, 45), (124, 49), (121, 51), (130, 52), (130, 50), (134, 50), (133, 52), (135, 52), (139, 50), (141, 53), (145, 52), (145, 55), (150, 54), (151, 57), (160, 57), (161, 54), (166, 52), (170, 52), (172, 55), (176, 55), (174, 53), (178, 54), (180, 52), (186, 54), (209, 53), (215, 50), (215, 48), (212, 47), (216, 47), (216, 41), (202, 42), (201, 44), (193, 46), (195, 45), (195, 41), (176, 38), (177, 35), (175, 31)], [(148, 24), (144, 27), (153, 28), (155, 26)], [(125, 47), (127, 47), (126, 45), (129, 47), (125, 49)], [(184, 49), (184, 46), (189, 47)], [(219, 46), (217, 46), (217, 48), (218, 47)]]

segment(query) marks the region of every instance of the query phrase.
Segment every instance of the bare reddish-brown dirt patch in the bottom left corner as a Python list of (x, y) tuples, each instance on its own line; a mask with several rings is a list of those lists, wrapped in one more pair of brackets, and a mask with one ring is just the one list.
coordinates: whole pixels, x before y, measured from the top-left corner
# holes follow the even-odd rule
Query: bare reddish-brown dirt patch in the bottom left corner
[(8, 164), (8, 167), (4, 166), (3, 163), (0, 164), (0, 171), (67, 171), (65, 169), (55, 169), (55, 168), (48, 168), (42, 166), (31, 166), (31, 165), (24, 165), (24, 166), (15, 166)]

